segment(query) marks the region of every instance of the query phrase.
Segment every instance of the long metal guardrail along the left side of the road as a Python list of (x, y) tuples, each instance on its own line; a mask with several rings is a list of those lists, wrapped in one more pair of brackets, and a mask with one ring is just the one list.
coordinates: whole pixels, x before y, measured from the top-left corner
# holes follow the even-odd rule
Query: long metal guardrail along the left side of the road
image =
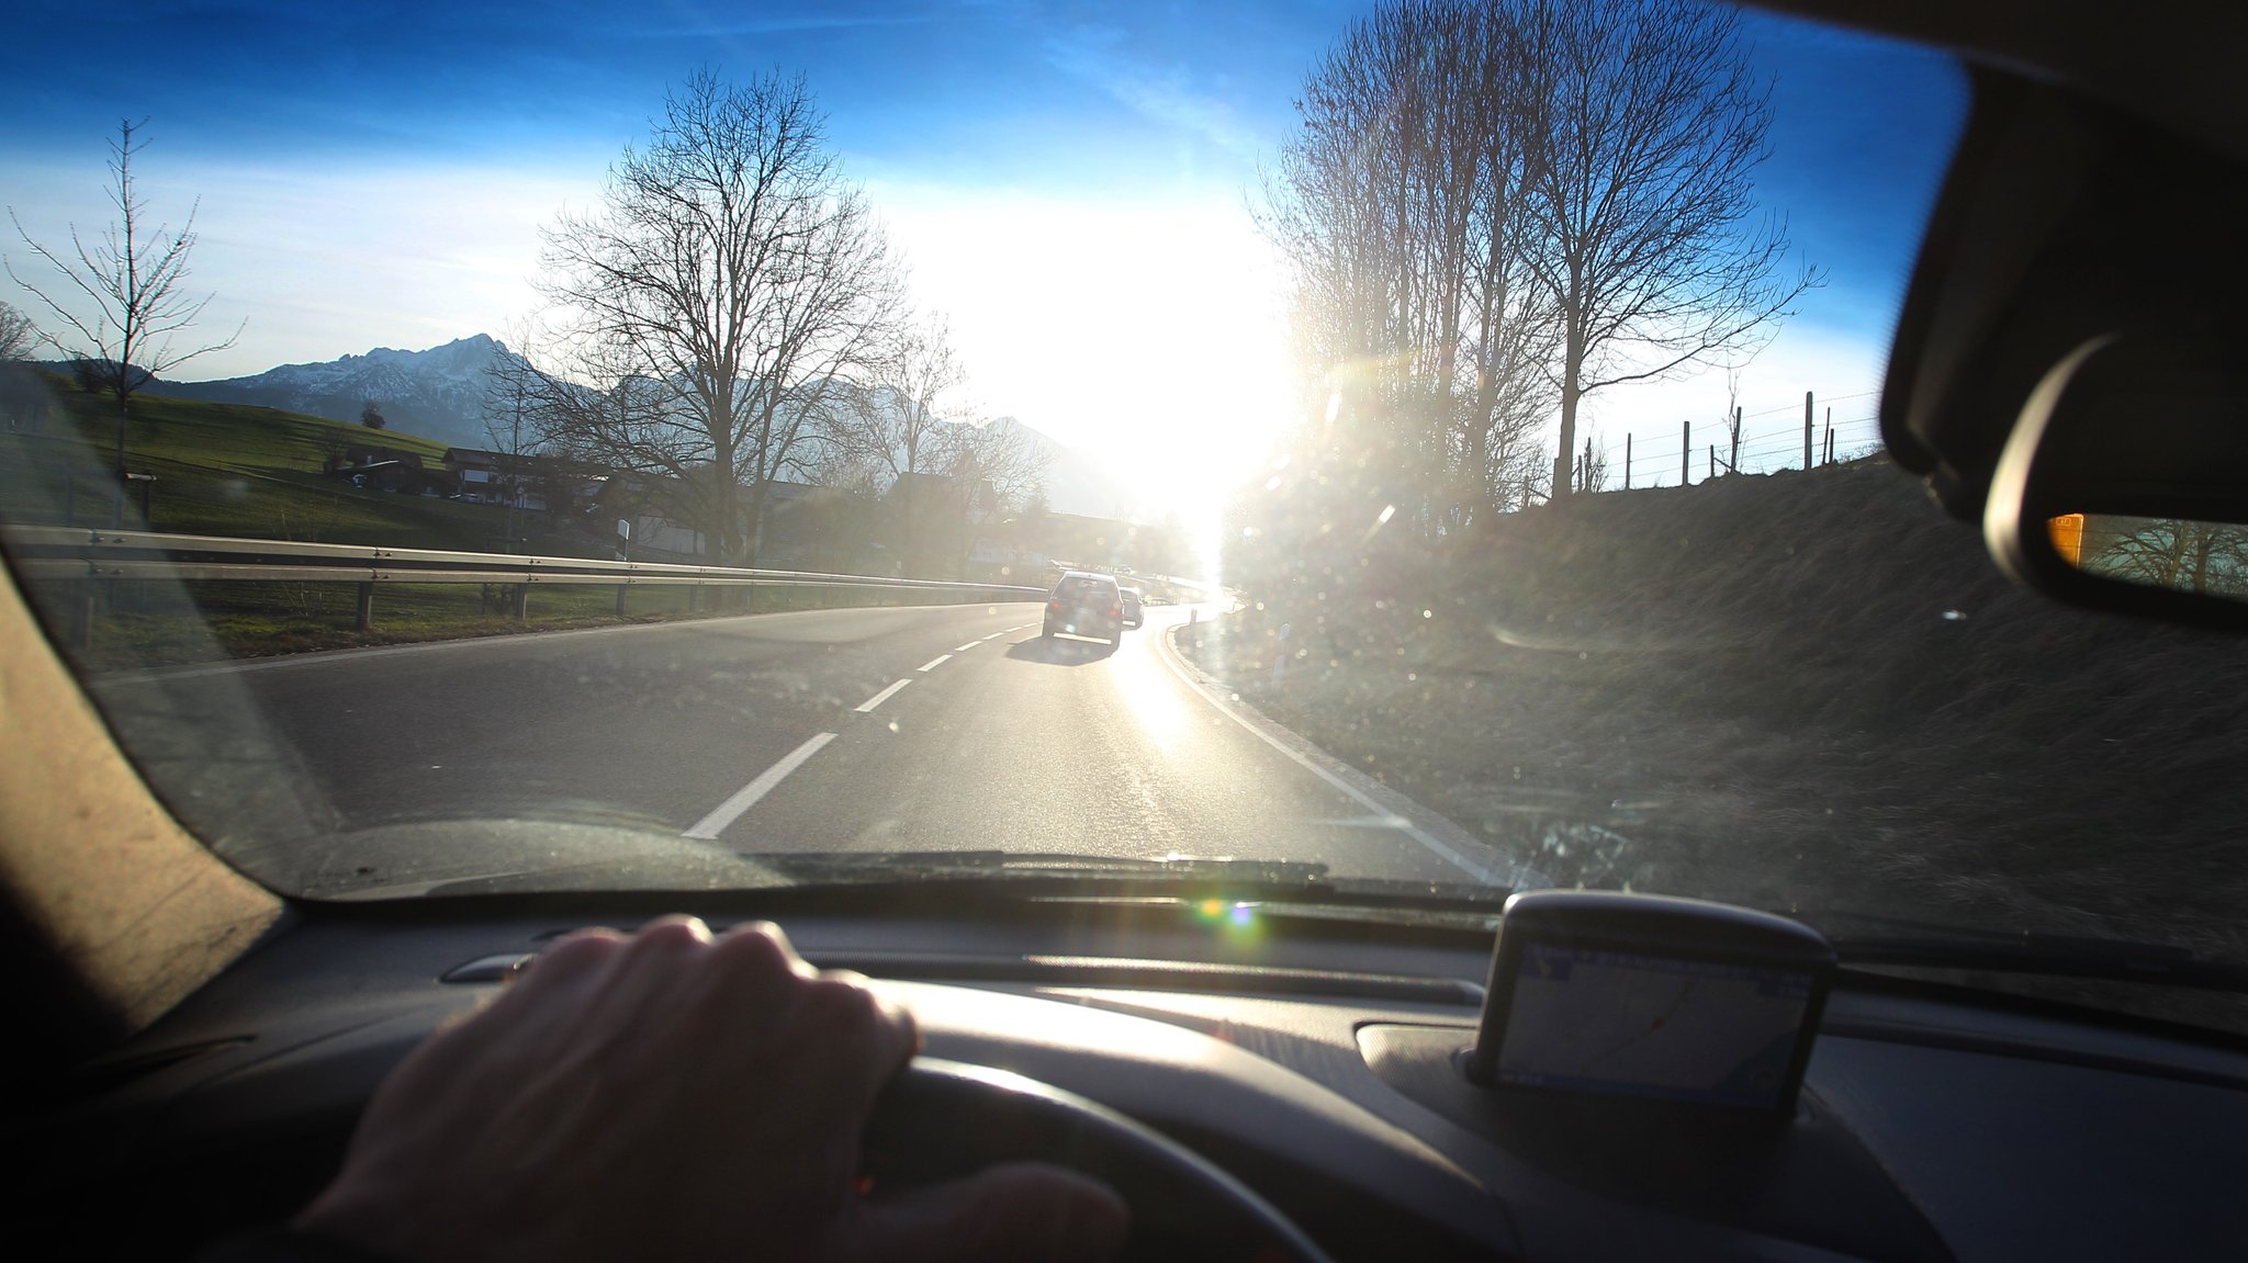
[(533, 587), (614, 587), (616, 614), (634, 587), (686, 587), (688, 609), (699, 589), (809, 587), (886, 589), (955, 596), (958, 600), (1045, 600), (1043, 587), (832, 575), (818, 571), (762, 571), (672, 562), (605, 562), (598, 557), (526, 557), (513, 553), (447, 553), (382, 548), (373, 544), (299, 544), (294, 539), (234, 539), (223, 535), (160, 535), (83, 526), (16, 526), (0, 533), (16, 571), (40, 582), (81, 584), (72, 638), (92, 636), (94, 605), (115, 582), (321, 582), (355, 584), (355, 627), (375, 618), (380, 584), (501, 584), (513, 587), (515, 618), (528, 616)]

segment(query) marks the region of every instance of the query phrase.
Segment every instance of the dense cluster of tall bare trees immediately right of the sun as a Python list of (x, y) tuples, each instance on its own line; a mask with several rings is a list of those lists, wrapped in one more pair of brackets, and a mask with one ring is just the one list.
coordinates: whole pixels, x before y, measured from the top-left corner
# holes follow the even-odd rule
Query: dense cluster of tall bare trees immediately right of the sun
[(1553, 321), (1531, 274), (1526, 137), (1499, 4), (1396, 0), (1313, 67), (1266, 189), (1295, 339), (1358, 499), (1423, 530), (1520, 503)]

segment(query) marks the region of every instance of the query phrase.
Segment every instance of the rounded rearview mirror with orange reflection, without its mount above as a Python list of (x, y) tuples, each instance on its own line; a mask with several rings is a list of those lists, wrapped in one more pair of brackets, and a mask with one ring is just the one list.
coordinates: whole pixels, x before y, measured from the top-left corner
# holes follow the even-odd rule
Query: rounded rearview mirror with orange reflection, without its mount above
[(2079, 605), (2248, 627), (2241, 342), (2106, 333), (2055, 364), (2007, 436), (1983, 537)]

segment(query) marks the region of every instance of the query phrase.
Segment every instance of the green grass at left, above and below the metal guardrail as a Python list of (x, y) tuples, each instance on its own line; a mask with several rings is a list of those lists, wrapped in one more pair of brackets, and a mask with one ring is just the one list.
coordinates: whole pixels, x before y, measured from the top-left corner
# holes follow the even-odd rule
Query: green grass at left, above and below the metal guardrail
[[(108, 398), (47, 378), (54, 402), (38, 431), (0, 431), (0, 521), (9, 526), (110, 526), (117, 485), (117, 411)], [(438, 463), (443, 443), (371, 431), (265, 407), (137, 396), (126, 429), (126, 465), (155, 474), (148, 512), (137, 499), (119, 526), (182, 535), (236, 535), (315, 544), (384, 544), (474, 553), (528, 551), (551, 557), (600, 555), (602, 544), (549, 528), (540, 512), (510, 512), (418, 494), (353, 488), (321, 470), (348, 445), (382, 445)], [(81, 584), (34, 591), (63, 640), (83, 607)], [(634, 587), (625, 616), (614, 587), (537, 587), (528, 618), (513, 618), (506, 584), (380, 584), (369, 632), (355, 629), (355, 584), (196, 582), (106, 584), (83, 645), (88, 670), (126, 670), (218, 656), (290, 654), (402, 640), (495, 636), (524, 629), (598, 627), (809, 609), (877, 600), (834, 589), (708, 589), (690, 609), (683, 587)]]

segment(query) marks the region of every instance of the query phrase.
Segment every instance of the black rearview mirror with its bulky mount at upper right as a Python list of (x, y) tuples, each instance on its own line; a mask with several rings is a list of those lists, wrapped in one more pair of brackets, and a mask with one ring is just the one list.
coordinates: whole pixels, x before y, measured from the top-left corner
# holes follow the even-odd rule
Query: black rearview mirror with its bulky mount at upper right
[(2034, 591), (2248, 625), (2248, 591), (2151, 564), (2196, 544), (2235, 587), (2205, 562), (2248, 521), (2248, 162), (2057, 81), (1971, 83), (1891, 346), (1891, 456)]

